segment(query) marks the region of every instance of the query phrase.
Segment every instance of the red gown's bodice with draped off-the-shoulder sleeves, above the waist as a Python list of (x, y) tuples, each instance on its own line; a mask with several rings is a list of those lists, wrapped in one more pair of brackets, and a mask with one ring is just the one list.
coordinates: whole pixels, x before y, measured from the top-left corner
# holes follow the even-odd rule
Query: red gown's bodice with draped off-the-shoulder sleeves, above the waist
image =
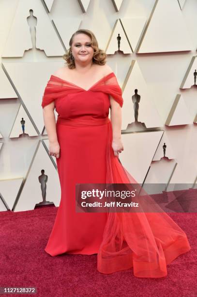
[(122, 107), (121, 87), (113, 72), (94, 83), (88, 90), (51, 75), (45, 87), (42, 107), (55, 101), (56, 111), (61, 118), (106, 118), (110, 107), (109, 95)]

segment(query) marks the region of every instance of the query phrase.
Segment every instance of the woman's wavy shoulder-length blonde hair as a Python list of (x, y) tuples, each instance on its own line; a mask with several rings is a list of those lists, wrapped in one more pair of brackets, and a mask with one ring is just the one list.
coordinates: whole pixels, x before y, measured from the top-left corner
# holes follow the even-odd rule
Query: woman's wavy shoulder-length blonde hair
[(98, 65), (105, 65), (106, 64), (106, 53), (102, 49), (99, 49), (98, 42), (96, 40), (96, 37), (95, 37), (94, 33), (92, 33), (90, 30), (80, 29), (80, 30), (77, 30), (72, 35), (72, 37), (71, 37), (71, 39), (69, 41), (70, 48), (68, 49), (67, 53), (65, 53), (63, 55), (63, 59), (66, 60), (68, 68), (69, 69), (75, 68), (75, 59), (71, 58), (72, 57), (71, 56), (71, 52), (72, 52), (71, 51), (71, 46), (73, 44), (74, 36), (77, 35), (77, 34), (80, 34), (80, 33), (86, 34), (91, 38), (91, 47), (94, 49), (94, 54), (93, 54), (92, 61), (95, 64), (98, 64)]

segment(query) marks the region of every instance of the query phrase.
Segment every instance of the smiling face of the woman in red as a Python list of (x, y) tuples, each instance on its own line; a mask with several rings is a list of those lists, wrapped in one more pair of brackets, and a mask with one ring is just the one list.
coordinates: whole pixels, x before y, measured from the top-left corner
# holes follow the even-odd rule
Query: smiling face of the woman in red
[(91, 47), (91, 38), (80, 33), (74, 36), (71, 50), (75, 59), (75, 62), (91, 62), (93, 58), (94, 50)]

